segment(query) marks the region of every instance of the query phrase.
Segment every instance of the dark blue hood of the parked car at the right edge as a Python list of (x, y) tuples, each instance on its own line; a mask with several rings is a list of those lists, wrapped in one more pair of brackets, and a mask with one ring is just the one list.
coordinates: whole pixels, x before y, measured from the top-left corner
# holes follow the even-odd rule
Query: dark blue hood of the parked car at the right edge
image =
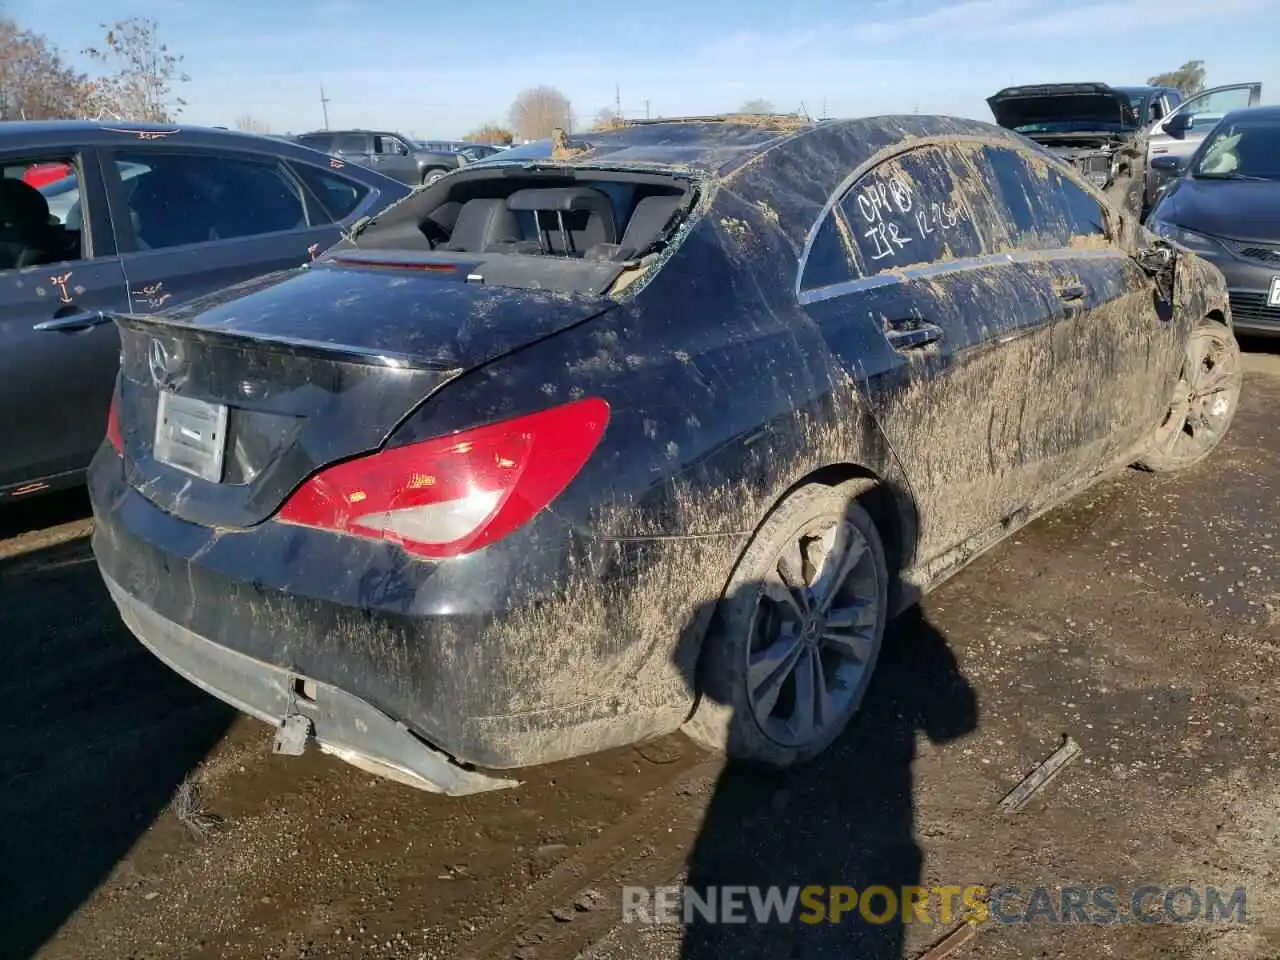
[(1280, 180), (1174, 180), (1156, 219), (1196, 233), (1280, 243)]

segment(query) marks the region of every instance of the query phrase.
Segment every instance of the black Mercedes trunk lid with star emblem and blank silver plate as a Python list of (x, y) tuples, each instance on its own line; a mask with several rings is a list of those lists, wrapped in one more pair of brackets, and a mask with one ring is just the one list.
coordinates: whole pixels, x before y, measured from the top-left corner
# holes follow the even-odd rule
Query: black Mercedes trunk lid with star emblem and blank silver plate
[(467, 283), (470, 269), (329, 261), (116, 317), (111, 426), (129, 484), (191, 522), (251, 526), (320, 467), (378, 449), (449, 380), (613, 303)]

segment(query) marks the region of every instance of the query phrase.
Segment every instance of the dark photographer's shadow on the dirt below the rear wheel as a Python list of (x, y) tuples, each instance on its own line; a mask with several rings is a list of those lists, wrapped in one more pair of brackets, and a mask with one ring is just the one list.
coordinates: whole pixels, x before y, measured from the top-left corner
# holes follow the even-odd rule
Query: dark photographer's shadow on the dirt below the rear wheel
[[(868, 886), (900, 892), (920, 883), (911, 763), (915, 737), (945, 744), (973, 731), (977, 698), (946, 639), (919, 607), (891, 621), (876, 675), (849, 728), (818, 759), (785, 774), (730, 763), (689, 858), (690, 887)], [(899, 960), (901, 914), (869, 922), (854, 906), (838, 923), (796, 902), (790, 923), (712, 923), (692, 913), (685, 960), (856, 957)], [(820, 902), (828, 904), (827, 891)], [(884, 911), (873, 902), (873, 915)]]

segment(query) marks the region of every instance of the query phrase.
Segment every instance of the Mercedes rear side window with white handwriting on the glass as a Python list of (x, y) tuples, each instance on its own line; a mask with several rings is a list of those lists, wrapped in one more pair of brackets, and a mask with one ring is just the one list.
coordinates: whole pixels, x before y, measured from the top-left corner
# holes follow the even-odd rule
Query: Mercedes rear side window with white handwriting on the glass
[(865, 276), (980, 256), (977, 195), (954, 150), (911, 150), (870, 170), (840, 202)]

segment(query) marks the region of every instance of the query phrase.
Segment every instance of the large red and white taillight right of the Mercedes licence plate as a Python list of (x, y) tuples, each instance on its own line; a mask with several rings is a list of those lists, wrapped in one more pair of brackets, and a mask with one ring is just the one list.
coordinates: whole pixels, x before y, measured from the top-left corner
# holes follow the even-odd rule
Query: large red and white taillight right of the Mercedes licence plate
[(568, 486), (609, 422), (588, 399), (436, 436), (329, 467), (280, 520), (374, 540), (419, 557), (477, 550), (527, 522)]

